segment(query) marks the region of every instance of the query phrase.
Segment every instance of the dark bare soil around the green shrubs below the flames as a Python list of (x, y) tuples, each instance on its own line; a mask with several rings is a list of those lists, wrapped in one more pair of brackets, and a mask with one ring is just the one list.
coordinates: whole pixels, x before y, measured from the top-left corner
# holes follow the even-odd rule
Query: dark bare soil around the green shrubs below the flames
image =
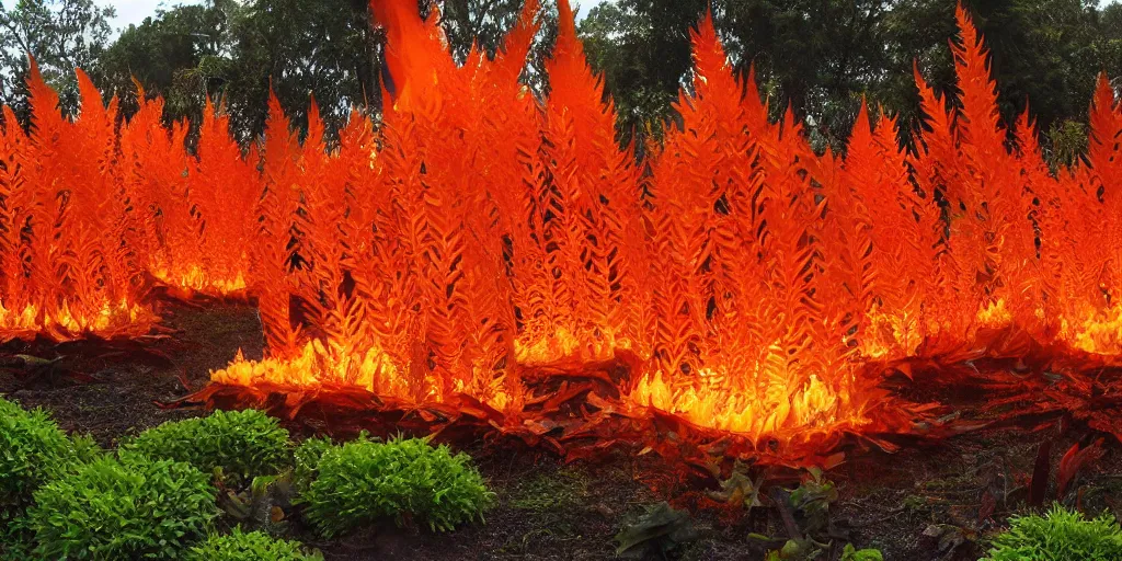
[[(164, 315), (171, 337), (142, 346), (9, 343), (0, 348), (0, 367), (8, 366), (0, 368), (0, 394), (42, 406), (65, 430), (92, 434), (105, 447), (168, 420), (204, 414), (160, 404), (203, 387), (209, 371), (226, 366), (239, 349), (259, 357), (259, 322), (249, 306), (219, 303), (168, 304)], [(20, 366), (16, 355), (58, 360)], [(306, 433), (305, 426), (291, 430)], [(1028, 489), (1041, 444), (1048, 442), (1051, 451), (1047, 504), (1056, 498), (1055, 467), (1063, 454), (1094, 438), (1077, 424), (1057, 422), (1036, 432), (978, 431), (892, 454), (850, 453), (826, 473), (839, 491), (829, 509), (829, 533), (837, 536), (830, 557), (840, 557), (847, 539), (858, 548), (880, 549), (886, 560), (976, 560), (987, 535), (1011, 514), (1029, 511)], [(616, 451), (595, 462), (564, 466), (544, 450), (525, 447), (463, 442), (460, 448), (476, 458), (498, 496), (486, 524), (447, 534), (371, 528), (323, 542), (302, 526), (298, 513), (289, 513), (289, 533), (329, 560), (611, 559), (620, 528), (669, 500), (688, 508), (700, 531), (697, 541), (670, 559), (760, 560), (789, 537), (781, 509), (770, 500), (751, 512), (717, 504), (705, 493), (715, 481), (680, 476), (683, 470), (653, 457)], [(1104, 449), (1065, 498), (1087, 512), (1122, 514), (1122, 451), (1112, 439)], [(772, 475), (772, 487), (798, 485), (789, 472)]]

